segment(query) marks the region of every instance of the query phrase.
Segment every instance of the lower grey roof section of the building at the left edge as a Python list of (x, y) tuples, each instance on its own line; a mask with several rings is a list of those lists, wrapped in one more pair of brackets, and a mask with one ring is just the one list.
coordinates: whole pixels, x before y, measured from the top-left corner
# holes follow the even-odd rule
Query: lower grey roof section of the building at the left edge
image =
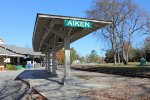
[(5, 48), (0, 47), (0, 56), (10, 56), (10, 57), (25, 57), (24, 55), (13, 53)]

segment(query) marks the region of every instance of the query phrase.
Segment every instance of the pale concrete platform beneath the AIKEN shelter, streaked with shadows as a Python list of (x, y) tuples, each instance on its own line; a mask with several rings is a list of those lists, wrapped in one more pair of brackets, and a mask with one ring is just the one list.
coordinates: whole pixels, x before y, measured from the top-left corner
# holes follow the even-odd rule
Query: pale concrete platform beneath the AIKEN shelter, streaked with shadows
[[(48, 100), (88, 100), (88, 97), (80, 96), (79, 93), (83, 89), (91, 89), (96, 86), (89, 82), (87, 84), (86, 80), (77, 77), (72, 77), (71, 84), (63, 86), (61, 85), (63, 73), (57, 71), (57, 74), (58, 77), (53, 77), (44, 69), (25, 70), (18, 77), (29, 82), (31, 88), (36, 89)], [(103, 84), (97, 87), (106, 88), (109, 86)]]

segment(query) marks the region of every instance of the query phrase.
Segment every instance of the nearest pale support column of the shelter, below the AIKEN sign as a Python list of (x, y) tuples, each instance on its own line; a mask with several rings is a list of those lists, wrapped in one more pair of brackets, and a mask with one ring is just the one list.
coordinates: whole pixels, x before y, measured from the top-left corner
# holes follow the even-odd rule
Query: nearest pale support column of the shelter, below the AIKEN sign
[[(71, 31), (71, 29), (70, 29)], [(64, 79), (63, 84), (70, 84), (70, 31), (65, 34), (64, 37), (64, 50), (65, 50), (65, 72), (64, 72)]]

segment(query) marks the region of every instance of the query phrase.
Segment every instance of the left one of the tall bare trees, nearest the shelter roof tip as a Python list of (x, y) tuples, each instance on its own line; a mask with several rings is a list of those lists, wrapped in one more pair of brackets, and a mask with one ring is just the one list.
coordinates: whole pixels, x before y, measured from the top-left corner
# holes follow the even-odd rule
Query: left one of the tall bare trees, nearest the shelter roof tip
[[(114, 64), (116, 65), (116, 54), (119, 52), (117, 41), (116, 28), (126, 17), (127, 13), (124, 13), (126, 5), (125, 1), (120, 2), (119, 0), (97, 0), (93, 9), (87, 11), (87, 15), (94, 19), (111, 20), (112, 24), (110, 27), (102, 29), (103, 36), (111, 43), (111, 49), (114, 55)], [(120, 14), (122, 13), (122, 17)], [(119, 55), (119, 53), (118, 53)]]

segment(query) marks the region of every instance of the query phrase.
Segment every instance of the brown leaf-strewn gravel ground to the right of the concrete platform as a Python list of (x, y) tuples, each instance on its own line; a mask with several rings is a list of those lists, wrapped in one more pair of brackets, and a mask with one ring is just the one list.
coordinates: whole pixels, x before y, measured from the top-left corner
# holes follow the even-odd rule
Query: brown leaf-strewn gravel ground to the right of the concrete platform
[(88, 96), (91, 100), (150, 100), (149, 76), (143, 78), (134, 75), (89, 72), (89, 70), (74, 71), (73, 75), (88, 80), (93, 85), (96, 83), (110, 86), (108, 88), (81, 90), (80, 95)]

